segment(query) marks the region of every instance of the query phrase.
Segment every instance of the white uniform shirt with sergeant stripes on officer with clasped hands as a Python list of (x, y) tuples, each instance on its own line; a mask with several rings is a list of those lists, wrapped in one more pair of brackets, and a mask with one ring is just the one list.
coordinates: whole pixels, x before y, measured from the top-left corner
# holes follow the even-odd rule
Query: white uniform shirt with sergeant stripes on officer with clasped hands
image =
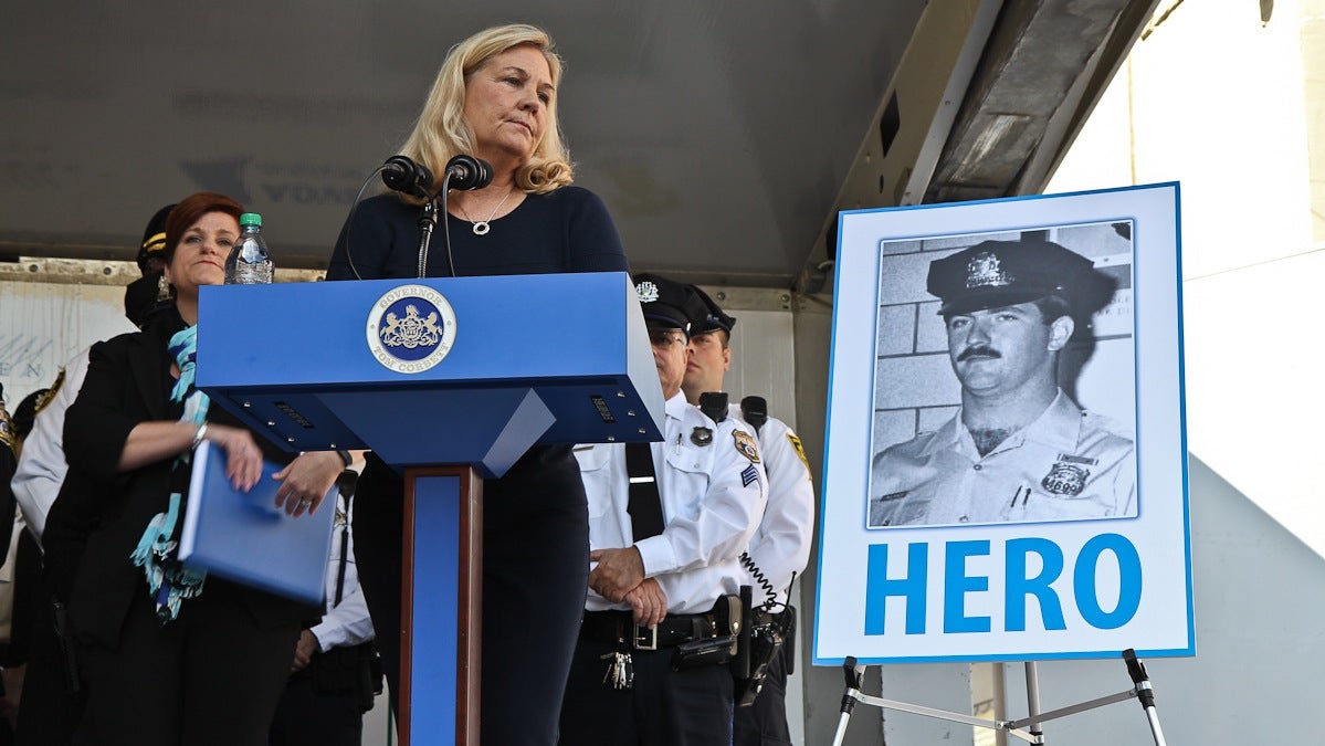
[[(664, 441), (651, 444), (662, 504), (662, 533), (632, 541), (629, 476), (624, 444), (580, 445), (588, 496), (591, 549), (628, 547), (644, 558), (644, 574), (657, 579), (669, 613), (701, 613), (745, 583), (738, 558), (763, 514), (767, 476), (747, 424), (726, 419), (714, 424), (685, 401), (668, 399)], [(706, 444), (704, 444), (706, 441)], [(629, 608), (588, 591), (588, 611)]]

